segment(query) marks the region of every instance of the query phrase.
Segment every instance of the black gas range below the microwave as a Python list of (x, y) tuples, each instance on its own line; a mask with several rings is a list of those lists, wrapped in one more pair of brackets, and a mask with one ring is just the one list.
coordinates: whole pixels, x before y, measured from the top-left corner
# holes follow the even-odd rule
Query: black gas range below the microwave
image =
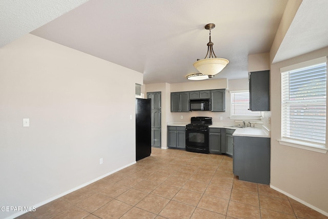
[(209, 126), (212, 117), (191, 117), (186, 126), (186, 150), (197, 153), (209, 153)]

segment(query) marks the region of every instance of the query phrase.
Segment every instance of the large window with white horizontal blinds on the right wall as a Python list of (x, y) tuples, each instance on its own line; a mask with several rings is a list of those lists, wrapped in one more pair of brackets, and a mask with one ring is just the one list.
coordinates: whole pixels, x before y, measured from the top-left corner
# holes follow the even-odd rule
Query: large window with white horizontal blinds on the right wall
[(281, 135), (325, 144), (326, 63), (281, 73)]

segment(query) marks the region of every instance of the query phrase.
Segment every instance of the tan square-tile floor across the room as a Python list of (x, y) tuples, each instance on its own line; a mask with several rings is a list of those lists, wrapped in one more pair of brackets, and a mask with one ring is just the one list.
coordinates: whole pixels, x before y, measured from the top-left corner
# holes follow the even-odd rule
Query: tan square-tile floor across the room
[(152, 148), (151, 156), (18, 218), (328, 218), (268, 185), (239, 181), (232, 158)]

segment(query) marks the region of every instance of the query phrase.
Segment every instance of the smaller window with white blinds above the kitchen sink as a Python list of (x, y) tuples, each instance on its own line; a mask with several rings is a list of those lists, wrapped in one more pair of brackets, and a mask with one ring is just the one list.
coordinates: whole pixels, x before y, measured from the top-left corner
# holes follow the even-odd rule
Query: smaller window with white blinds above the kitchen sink
[(250, 108), (250, 92), (246, 91), (230, 91), (231, 97), (231, 117), (260, 117), (261, 112), (251, 111)]

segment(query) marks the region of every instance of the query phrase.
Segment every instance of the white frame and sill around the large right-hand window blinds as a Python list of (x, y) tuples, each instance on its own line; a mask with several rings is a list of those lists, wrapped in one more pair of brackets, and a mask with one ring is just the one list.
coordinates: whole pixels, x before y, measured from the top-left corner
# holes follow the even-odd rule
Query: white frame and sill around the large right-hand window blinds
[[(325, 63), (327, 64), (327, 57), (323, 56), (320, 58), (315, 58), (312, 59), (310, 61), (306, 61), (306, 62), (302, 62), (302, 63), (298, 63), (295, 65), (291, 65), (291, 66), (286, 66), (286, 67), (282, 67), (280, 68), (280, 83), (281, 83), (281, 132), (280, 132), (280, 140), (278, 140), (279, 144), (281, 145), (285, 145), (285, 146), (290, 146), (290, 147), (296, 147), (296, 148), (301, 148), (301, 149), (305, 149), (305, 150), (310, 150), (310, 151), (315, 151), (315, 152), (319, 152), (319, 153), (326, 153), (328, 151), (328, 148), (326, 147), (326, 138), (325, 138), (325, 143), (316, 143), (316, 142), (309, 142), (309, 141), (302, 141), (299, 140), (297, 138), (289, 138), (289, 137), (284, 137), (283, 136), (283, 73), (286, 72), (290, 72), (293, 70), (297, 70), (297, 69), (301, 69), (301, 68), (306, 68), (306, 67), (310, 67), (310, 66), (314, 66), (314, 65), (318, 65), (318, 64), (322, 64)], [(327, 67), (326, 67), (327, 69)], [(327, 73), (326, 73), (326, 77), (327, 77)], [(326, 93), (327, 93), (327, 81), (326, 81)], [(325, 106), (327, 99), (325, 100)], [(325, 115), (325, 120), (326, 120), (326, 115)], [(327, 136), (327, 129), (325, 129), (325, 137)]]

